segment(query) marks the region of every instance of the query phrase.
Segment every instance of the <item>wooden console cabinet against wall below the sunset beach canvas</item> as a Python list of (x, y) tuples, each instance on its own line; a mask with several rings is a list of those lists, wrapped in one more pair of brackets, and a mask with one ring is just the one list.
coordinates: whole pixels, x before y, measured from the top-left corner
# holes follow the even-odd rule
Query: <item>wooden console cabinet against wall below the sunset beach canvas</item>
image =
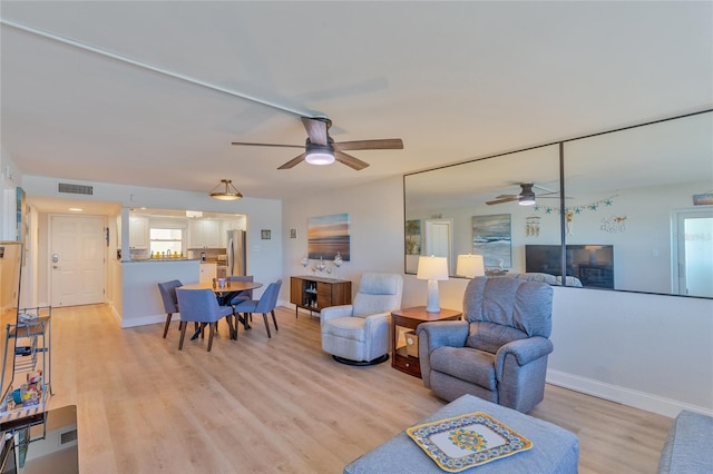
[(352, 304), (352, 283), (345, 279), (318, 276), (290, 277), (290, 303), (295, 305), (294, 317), (300, 308), (320, 313), (329, 306)]

